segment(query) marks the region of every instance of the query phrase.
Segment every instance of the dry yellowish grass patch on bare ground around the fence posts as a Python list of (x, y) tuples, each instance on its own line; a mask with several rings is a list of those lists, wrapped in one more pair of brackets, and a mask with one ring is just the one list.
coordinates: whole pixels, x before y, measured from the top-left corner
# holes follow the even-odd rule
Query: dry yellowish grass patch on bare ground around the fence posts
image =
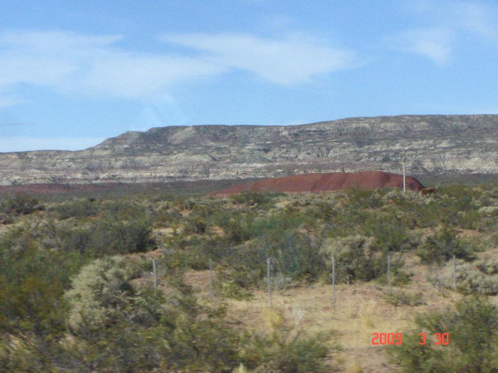
[[(228, 300), (228, 315), (237, 324), (261, 332), (271, 325), (283, 322), (295, 324), (311, 333), (324, 332), (342, 351), (335, 352), (331, 369), (349, 373), (396, 372), (380, 351), (384, 347), (372, 346), (372, 333), (402, 332), (413, 327), (416, 313), (443, 309), (458, 296), (440, 292), (427, 281), (429, 269), (417, 258), (406, 260), (413, 281), (403, 291), (422, 293), (419, 306), (395, 307), (383, 296), (387, 288), (375, 283), (340, 284), (336, 286), (336, 305), (332, 307), (331, 285), (315, 283), (286, 288), (272, 293), (272, 307), (268, 309), (265, 290), (254, 290), (249, 300)], [(190, 271), (185, 280), (193, 286), (201, 299), (209, 298), (209, 271)], [(283, 320), (278, 320), (283, 316)]]

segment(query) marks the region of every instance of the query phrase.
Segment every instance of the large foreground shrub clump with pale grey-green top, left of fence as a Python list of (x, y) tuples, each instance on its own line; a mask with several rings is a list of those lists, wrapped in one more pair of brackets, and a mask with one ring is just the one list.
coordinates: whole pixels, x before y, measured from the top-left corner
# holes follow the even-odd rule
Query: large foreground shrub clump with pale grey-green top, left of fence
[(147, 287), (135, 287), (130, 279), (123, 258), (97, 260), (82, 269), (66, 292), (73, 358), (80, 367), (222, 372), (236, 366), (239, 337), (226, 327), (223, 307), (201, 307), (187, 287), (172, 279), (167, 297), (160, 290), (154, 295)]

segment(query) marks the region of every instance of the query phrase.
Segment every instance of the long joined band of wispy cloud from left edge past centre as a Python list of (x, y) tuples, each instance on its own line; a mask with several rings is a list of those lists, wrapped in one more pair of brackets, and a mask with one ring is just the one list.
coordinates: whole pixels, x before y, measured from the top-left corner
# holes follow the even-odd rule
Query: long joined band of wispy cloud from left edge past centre
[[(291, 85), (349, 68), (354, 53), (292, 35), (262, 38), (252, 34), (174, 34), (163, 42), (186, 46), (197, 55), (144, 53), (119, 47), (120, 35), (89, 36), (59, 31), (0, 34), (0, 90), (18, 84), (91, 97), (150, 98), (172, 85), (234, 69), (250, 71), (271, 83)], [(0, 95), (0, 106), (22, 97)]]

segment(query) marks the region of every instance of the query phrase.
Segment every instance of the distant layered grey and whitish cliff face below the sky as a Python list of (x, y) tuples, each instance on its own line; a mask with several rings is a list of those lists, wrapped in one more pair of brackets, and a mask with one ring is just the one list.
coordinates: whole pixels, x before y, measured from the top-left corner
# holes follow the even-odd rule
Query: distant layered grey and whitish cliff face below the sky
[(175, 126), (86, 150), (0, 153), (0, 184), (271, 178), (311, 172), (498, 173), (498, 115), (402, 115), (297, 126)]

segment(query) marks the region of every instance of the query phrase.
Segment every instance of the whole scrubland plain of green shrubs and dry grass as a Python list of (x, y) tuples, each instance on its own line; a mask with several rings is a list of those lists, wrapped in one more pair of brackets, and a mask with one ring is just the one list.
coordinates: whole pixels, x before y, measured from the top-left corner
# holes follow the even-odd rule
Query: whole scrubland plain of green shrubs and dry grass
[[(496, 372), (486, 368), (498, 366), (495, 207), (494, 184), (439, 187), (426, 197), (355, 188), (226, 198), (5, 196), (0, 371), (369, 372), (341, 352), (360, 337), (350, 343), (342, 324), (325, 316), (302, 321), (300, 313), (330, 315), (344, 328), (359, 322), (368, 341), (388, 321), (375, 308), (392, 307), (405, 315), (391, 326), (406, 327), (406, 341), (417, 330), (441, 330), (452, 345), (394, 346), (387, 371)], [(327, 295), (332, 257), (342, 302), (335, 309)], [(271, 310), (264, 305), (267, 259)], [(214, 299), (210, 276), (202, 286), (195, 280), (209, 274), (210, 261)], [(348, 303), (357, 292), (365, 297), (359, 308)], [(311, 294), (327, 297), (322, 308), (303, 311), (285, 301)], [(431, 306), (435, 296), (444, 312)], [(414, 310), (423, 316), (408, 322)], [(241, 321), (245, 314), (252, 316)]]

